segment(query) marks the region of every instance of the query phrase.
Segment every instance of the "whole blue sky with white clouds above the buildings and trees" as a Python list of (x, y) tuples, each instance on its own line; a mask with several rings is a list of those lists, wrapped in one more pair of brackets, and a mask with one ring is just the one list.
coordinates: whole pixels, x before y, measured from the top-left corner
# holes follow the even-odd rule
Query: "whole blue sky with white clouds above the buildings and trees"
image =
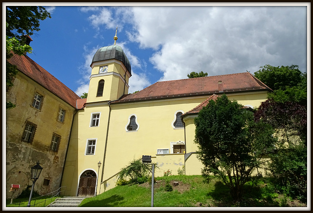
[(114, 44), (116, 26), (116, 44), (132, 66), (130, 93), (192, 71), (211, 76), (293, 64), (307, 72), (307, 4), (67, 5), (46, 7), (52, 18), (32, 35), (29, 57), (77, 95), (88, 92), (91, 59)]

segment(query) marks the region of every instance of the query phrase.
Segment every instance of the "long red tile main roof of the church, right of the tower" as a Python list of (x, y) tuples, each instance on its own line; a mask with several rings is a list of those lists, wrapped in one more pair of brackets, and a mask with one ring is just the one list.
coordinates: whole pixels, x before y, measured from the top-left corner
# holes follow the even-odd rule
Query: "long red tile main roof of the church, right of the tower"
[(200, 78), (159, 81), (137, 93), (124, 95), (121, 99), (113, 101), (112, 103), (258, 90), (271, 91), (268, 86), (249, 72), (242, 72)]

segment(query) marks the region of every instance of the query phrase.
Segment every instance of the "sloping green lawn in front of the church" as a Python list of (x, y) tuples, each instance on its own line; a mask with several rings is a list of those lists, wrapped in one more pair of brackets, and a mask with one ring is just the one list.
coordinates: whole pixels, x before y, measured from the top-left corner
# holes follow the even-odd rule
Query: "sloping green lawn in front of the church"
[[(269, 183), (259, 180), (247, 183), (245, 196), (240, 203), (233, 203), (228, 188), (217, 178), (209, 184), (200, 175), (177, 175), (156, 178), (154, 207), (288, 207), (290, 200), (277, 194)], [(165, 184), (179, 181), (173, 191), (166, 191)], [(294, 202), (293, 202), (294, 203)], [(302, 206), (302, 204), (299, 204)], [(116, 186), (96, 197), (86, 198), (80, 207), (151, 207), (151, 186)]]

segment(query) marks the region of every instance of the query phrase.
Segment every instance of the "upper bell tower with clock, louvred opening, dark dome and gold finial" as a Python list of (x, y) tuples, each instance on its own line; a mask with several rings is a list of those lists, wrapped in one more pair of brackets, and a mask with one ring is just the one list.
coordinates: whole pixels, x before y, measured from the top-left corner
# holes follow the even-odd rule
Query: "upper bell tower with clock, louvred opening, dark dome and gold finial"
[(128, 94), (128, 81), (132, 76), (131, 64), (122, 47), (114, 45), (99, 48), (91, 62), (91, 76), (87, 102), (117, 100)]

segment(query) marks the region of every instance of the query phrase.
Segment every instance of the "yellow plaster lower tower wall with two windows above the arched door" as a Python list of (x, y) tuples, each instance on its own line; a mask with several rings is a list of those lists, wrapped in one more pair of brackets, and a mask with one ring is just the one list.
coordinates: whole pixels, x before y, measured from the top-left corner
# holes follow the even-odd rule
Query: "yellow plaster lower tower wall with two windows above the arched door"
[[(90, 127), (91, 113), (98, 112), (100, 112), (99, 126)], [(84, 110), (79, 111), (75, 117), (63, 178), (63, 185), (67, 186), (66, 195), (77, 195), (79, 178), (83, 172), (93, 170), (98, 174), (97, 163), (99, 161), (103, 163), (108, 116), (109, 106), (101, 104), (93, 106), (87, 105), (87, 107)], [(88, 139), (96, 140), (94, 155), (86, 155)], [(99, 170), (99, 173), (101, 174), (102, 166)]]

